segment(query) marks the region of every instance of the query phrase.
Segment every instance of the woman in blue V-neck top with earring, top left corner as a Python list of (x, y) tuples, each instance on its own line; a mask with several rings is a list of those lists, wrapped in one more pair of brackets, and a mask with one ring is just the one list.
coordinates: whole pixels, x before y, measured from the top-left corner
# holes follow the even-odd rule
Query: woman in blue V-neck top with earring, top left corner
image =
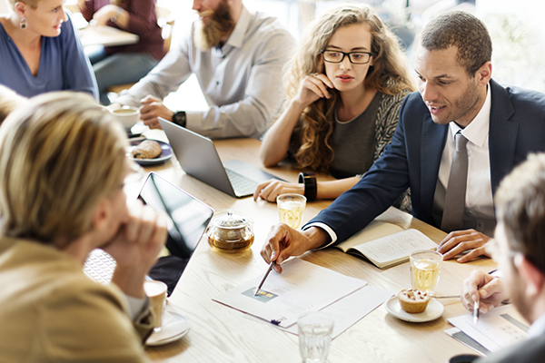
[(0, 15), (0, 84), (25, 97), (78, 91), (98, 98), (93, 70), (63, 0), (9, 0)]

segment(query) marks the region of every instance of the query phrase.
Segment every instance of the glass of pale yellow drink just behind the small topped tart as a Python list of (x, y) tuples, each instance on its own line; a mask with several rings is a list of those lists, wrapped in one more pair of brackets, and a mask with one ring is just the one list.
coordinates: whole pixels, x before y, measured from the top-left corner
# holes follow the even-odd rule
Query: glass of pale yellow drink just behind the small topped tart
[(411, 288), (435, 294), (442, 255), (435, 250), (415, 250), (411, 252)]

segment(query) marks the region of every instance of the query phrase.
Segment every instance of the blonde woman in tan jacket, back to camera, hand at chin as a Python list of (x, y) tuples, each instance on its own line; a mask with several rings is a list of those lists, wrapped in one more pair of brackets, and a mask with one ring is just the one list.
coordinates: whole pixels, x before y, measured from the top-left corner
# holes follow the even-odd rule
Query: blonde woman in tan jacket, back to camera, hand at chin
[[(89, 95), (46, 93), (0, 127), (0, 361), (146, 361), (166, 221), (128, 209), (115, 124)], [(84, 275), (95, 248), (116, 260), (110, 285)]]

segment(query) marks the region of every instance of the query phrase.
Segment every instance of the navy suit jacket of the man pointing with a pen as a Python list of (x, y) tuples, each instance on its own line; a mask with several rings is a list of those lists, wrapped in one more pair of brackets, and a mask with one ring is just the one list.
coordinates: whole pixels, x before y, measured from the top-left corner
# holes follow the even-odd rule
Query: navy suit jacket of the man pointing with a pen
[[(504, 88), (493, 80), (490, 89), (490, 183), (495, 193), (501, 179), (528, 153), (545, 151), (545, 94)], [(411, 187), (412, 214), (435, 225), (431, 210), (448, 128), (433, 123), (420, 93), (409, 94), (381, 158), (360, 182), (307, 224), (325, 223), (335, 231), (337, 241), (346, 240)]]

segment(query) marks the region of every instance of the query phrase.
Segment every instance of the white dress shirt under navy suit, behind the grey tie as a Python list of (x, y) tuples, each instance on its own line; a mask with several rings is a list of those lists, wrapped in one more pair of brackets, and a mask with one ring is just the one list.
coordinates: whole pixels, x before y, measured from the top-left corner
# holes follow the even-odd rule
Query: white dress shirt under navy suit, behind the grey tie
[(490, 86), (481, 111), (464, 129), (457, 123), (449, 124), (449, 134), (441, 156), (439, 175), (435, 196), (433, 199), (434, 219), (441, 225), (445, 191), (451, 175), (452, 156), (456, 150), (454, 136), (456, 132), (468, 139), (468, 182), (466, 187), (464, 229), (473, 228), (488, 236), (493, 236), (496, 227), (494, 215), (494, 200), (490, 179)]

